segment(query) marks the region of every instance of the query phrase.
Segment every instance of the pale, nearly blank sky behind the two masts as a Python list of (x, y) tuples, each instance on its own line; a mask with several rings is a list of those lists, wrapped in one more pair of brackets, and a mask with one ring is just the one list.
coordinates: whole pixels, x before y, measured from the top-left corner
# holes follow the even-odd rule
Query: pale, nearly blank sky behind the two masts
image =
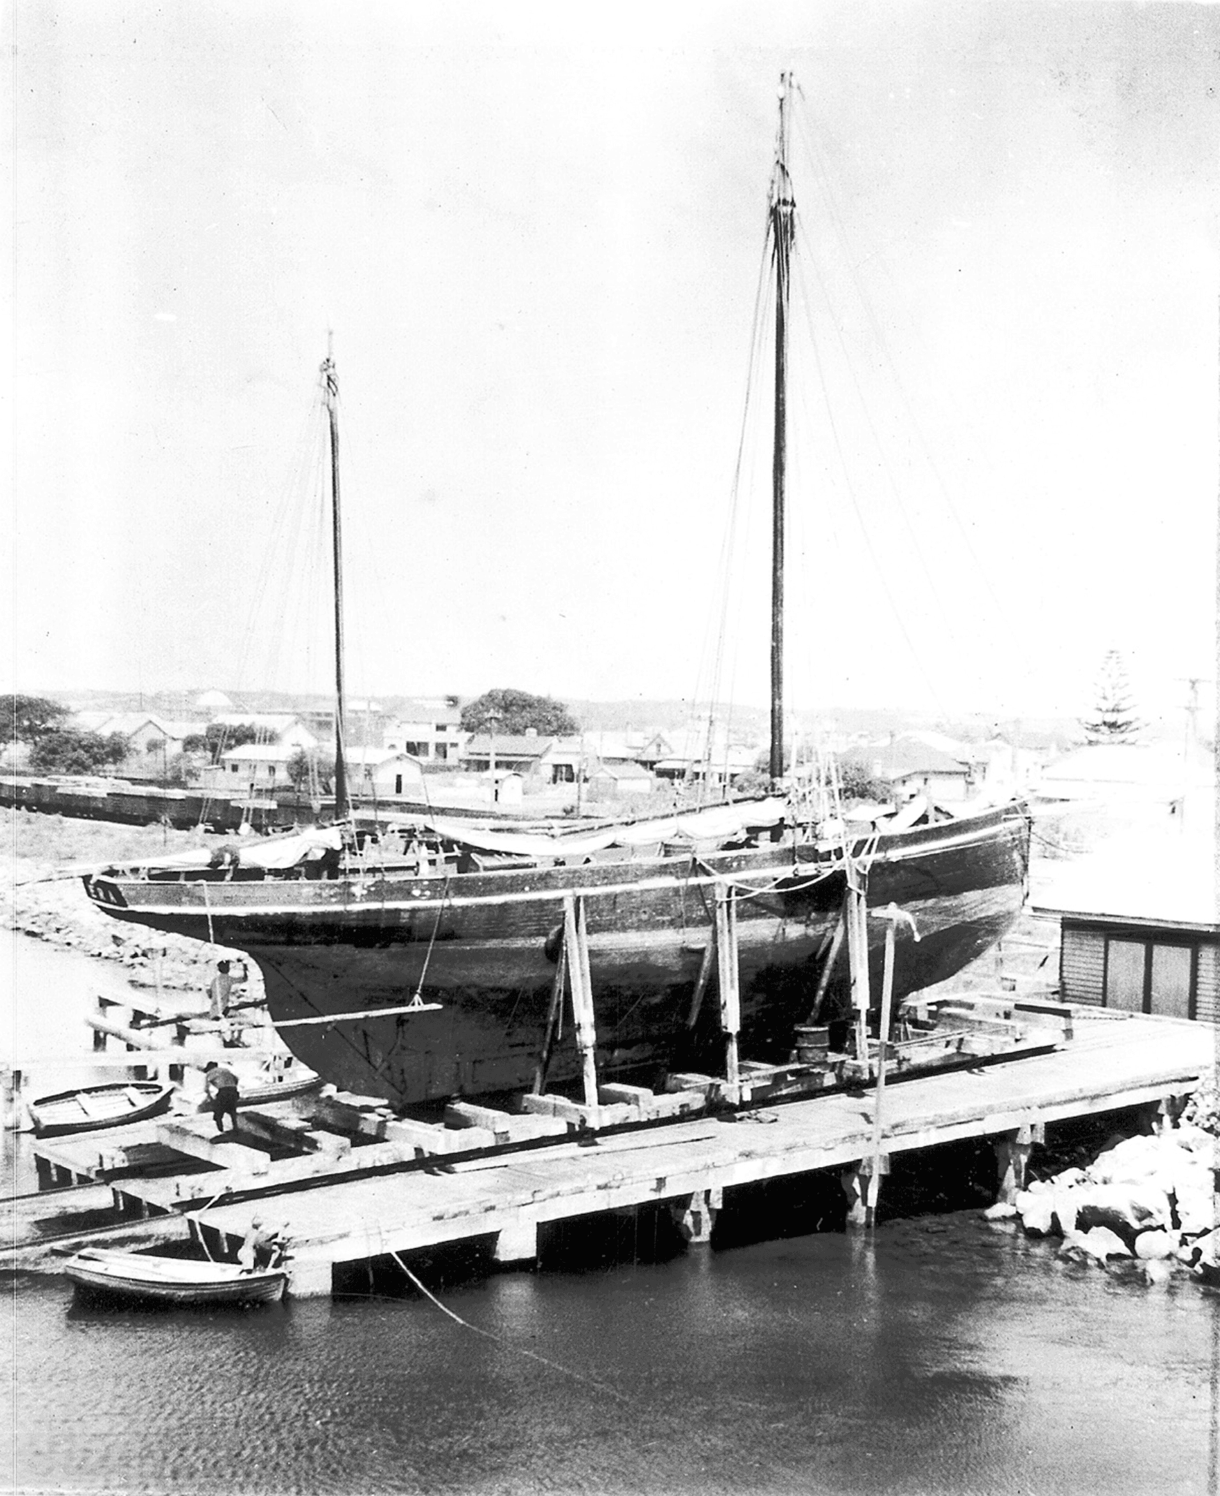
[(765, 700), (788, 69), (792, 705), (1214, 675), (1220, 7), (7, 25), (16, 690), (326, 690), (332, 331), (353, 693)]

